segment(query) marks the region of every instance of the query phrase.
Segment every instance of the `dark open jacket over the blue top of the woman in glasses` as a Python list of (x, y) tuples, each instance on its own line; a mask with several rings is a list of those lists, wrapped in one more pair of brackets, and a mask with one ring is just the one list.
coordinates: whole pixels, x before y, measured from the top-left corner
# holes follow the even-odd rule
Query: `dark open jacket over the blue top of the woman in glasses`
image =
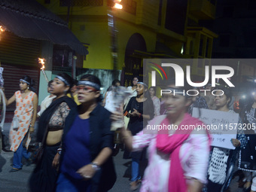
[[(66, 134), (69, 132), (75, 118), (78, 116), (78, 110), (81, 105), (78, 105), (77, 110), (69, 112), (69, 116), (66, 117), (64, 133), (62, 142), (65, 141)], [(102, 148), (113, 149), (113, 136), (111, 132), (111, 113), (102, 107), (102, 105), (96, 105), (96, 108), (90, 113), (90, 157), (91, 161), (96, 158)], [(62, 146), (62, 155), (65, 155), (65, 148)], [(62, 162), (62, 157), (60, 162)], [(92, 189), (91, 191), (106, 191), (113, 187), (116, 181), (116, 173), (114, 170), (114, 163), (112, 157), (101, 166), (101, 169), (91, 179)]]

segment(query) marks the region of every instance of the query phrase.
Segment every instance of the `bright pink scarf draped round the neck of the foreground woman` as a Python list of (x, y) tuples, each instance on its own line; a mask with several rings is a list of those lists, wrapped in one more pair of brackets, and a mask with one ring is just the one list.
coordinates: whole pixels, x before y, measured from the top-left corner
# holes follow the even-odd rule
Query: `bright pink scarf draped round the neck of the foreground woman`
[[(161, 125), (169, 125), (169, 120), (165, 118)], [(186, 179), (184, 178), (184, 171), (181, 167), (181, 160), (179, 159), (179, 151), (181, 145), (190, 136), (193, 130), (180, 130), (181, 125), (199, 125), (202, 121), (191, 117), (190, 114), (185, 114), (184, 119), (178, 125), (178, 130), (172, 136), (168, 135), (168, 130), (163, 130), (157, 135), (157, 149), (163, 153), (170, 154), (171, 166), (169, 173), (169, 192), (187, 192)]]

